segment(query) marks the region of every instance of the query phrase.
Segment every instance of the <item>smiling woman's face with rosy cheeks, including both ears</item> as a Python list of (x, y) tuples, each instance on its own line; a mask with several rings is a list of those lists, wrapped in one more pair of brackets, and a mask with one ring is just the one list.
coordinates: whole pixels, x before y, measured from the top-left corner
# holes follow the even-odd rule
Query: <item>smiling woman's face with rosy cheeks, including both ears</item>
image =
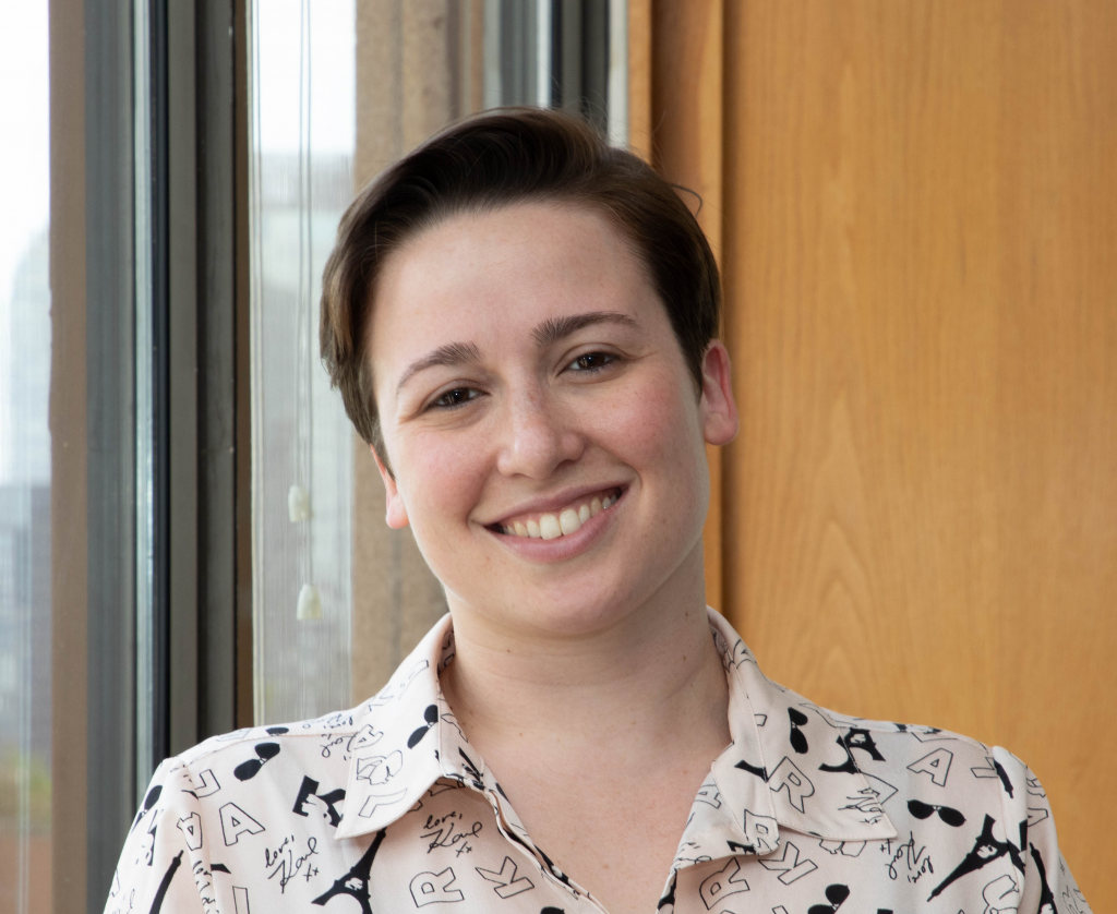
[(667, 311), (593, 211), (458, 216), (381, 273), (371, 358), (388, 522), (451, 610), (585, 635), (701, 573), (704, 440), (736, 431), (715, 343), (701, 397)]

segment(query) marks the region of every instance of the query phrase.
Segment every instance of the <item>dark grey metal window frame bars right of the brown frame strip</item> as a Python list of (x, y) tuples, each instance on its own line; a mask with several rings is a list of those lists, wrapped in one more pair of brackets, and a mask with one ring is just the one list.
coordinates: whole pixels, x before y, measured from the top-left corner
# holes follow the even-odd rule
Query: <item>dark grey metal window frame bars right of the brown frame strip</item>
[(238, 486), (249, 447), (238, 435), (239, 388), (248, 381), (237, 258), (238, 210), (247, 202), (238, 155), (244, 6), (147, 4), (153, 701), (151, 718), (141, 722), (152, 756), (137, 765), (248, 723), (237, 707), (250, 683), (237, 665), (238, 592), (248, 571), (239, 561), (238, 516), (249, 497)]

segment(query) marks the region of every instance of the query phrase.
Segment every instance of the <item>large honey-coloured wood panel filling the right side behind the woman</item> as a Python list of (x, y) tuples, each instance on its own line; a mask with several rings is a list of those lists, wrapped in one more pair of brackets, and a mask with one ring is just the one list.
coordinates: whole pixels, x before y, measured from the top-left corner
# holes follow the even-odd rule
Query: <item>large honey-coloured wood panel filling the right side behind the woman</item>
[(726, 6), (727, 608), (1043, 780), (1117, 907), (1117, 6)]

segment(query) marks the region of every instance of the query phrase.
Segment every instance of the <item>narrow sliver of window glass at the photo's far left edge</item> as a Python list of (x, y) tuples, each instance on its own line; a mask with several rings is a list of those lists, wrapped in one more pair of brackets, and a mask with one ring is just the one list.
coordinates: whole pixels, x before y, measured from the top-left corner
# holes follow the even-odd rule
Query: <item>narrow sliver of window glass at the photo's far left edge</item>
[(46, 0), (0, 13), (0, 912), (50, 910)]

